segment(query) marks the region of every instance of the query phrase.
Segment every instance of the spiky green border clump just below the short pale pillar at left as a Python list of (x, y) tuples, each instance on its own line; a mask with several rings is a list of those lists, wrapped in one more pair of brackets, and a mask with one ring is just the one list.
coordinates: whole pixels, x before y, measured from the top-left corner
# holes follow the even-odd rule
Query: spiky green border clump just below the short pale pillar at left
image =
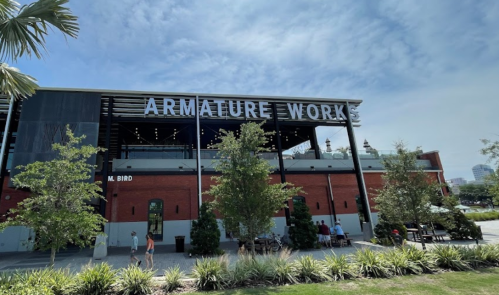
[(76, 275), (72, 293), (81, 295), (104, 294), (111, 290), (116, 282), (116, 270), (107, 263), (92, 265), (89, 263), (82, 267), (82, 271)]

